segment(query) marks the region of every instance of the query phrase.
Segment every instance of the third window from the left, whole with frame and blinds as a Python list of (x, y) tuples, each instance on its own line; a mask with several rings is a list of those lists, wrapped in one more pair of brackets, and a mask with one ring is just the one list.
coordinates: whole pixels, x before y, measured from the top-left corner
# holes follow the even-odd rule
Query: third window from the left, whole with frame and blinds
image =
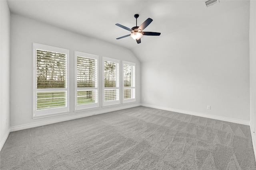
[(119, 60), (103, 57), (103, 66), (104, 66), (103, 106), (120, 104)]

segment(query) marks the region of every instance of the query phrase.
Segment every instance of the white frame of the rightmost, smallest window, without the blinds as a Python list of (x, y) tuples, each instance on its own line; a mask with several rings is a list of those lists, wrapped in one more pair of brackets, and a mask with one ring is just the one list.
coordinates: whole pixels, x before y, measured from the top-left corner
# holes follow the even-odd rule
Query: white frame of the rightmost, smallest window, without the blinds
[[(124, 87), (124, 64), (125, 65), (131, 65), (132, 66), (132, 72), (131, 72), (131, 87)], [(125, 89), (133, 89), (134, 90), (134, 98), (131, 99), (124, 99), (124, 90)], [(129, 61), (122, 61), (122, 103), (133, 103), (136, 102), (136, 64), (129, 62)]]

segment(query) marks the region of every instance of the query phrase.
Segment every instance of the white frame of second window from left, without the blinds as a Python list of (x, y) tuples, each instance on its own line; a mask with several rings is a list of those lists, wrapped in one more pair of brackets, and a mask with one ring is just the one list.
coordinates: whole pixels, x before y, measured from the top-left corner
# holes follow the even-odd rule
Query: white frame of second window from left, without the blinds
[[(97, 103), (91, 103), (91, 104), (82, 104), (82, 105), (78, 105), (77, 104), (77, 91), (81, 88), (77, 87), (77, 57), (84, 57), (84, 58), (89, 58), (89, 59), (95, 59), (97, 61), (97, 65), (96, 65), (96, 71), (97, 71), (97, 78), (95, 79), (97, 81), (97, 87), (86, 87), (83, 88), (83, 90), (95, 90), (97, 92)], [(99, 104), (99, 56), (98, 55), (93, 55), (93, 54), (89, 54), (89, 53), (83, 53), (80, 51), (75, 51), (74, 52), (74, 71), (75, 71), (75, 87), (74, 87), (74, 104), (75, 104), (75, 111), (74, 112), (80, 112), (80, 111), (86, 111), (86, 110), (90, 110), (90, 109), (97, 109), (99, 108), (100, 104)]]

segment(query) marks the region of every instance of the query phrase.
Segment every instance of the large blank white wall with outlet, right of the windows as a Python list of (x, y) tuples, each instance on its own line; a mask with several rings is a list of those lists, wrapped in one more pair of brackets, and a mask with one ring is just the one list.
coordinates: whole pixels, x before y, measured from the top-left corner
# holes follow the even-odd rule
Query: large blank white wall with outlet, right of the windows
[(135, 48), (142, 103), (249, 123), (248, 25), (247, 1)]

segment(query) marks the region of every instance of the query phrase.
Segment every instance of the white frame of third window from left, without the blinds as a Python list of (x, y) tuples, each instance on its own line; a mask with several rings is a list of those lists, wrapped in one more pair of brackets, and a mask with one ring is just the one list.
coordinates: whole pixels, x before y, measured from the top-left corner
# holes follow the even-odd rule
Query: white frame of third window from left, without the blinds
[[(118, 83), (116, 87), (105, 87), (104, 82), (104, 61), (116, 63), (116, 82)], [(118, 100), (107, 101), (105, 102), (105, 90), (118, 90), (116, 94), (118, 94)], [(120, 105), (120, 60), (113, 59), (109, 57), (102, 57), (102, 107), (110, 107), (110, 106), (118, 106)]]

